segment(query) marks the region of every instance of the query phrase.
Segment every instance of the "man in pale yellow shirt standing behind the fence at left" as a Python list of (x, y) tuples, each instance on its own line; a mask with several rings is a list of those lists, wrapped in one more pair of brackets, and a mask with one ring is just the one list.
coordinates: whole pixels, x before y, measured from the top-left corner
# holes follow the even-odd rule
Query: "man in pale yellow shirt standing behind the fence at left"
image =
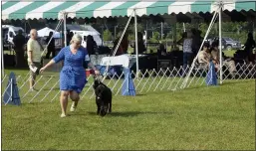
[[(32, 67), (36, 67), (37, 69), (40, 68), (41, 64), (41, 51), (42, 46), (41, 44), (37, 41), (37, 30), (32, 29), (30, 31), (30, 39), (27, 43), (27, 48), (28, 48), (28, 65)], [(36, 80), (36, 75), (38, 73), (34, 73), (33, 71), (30, 70), (30, 90), (36, 90), (34, 88), (35, 85), (35, 80)]]

